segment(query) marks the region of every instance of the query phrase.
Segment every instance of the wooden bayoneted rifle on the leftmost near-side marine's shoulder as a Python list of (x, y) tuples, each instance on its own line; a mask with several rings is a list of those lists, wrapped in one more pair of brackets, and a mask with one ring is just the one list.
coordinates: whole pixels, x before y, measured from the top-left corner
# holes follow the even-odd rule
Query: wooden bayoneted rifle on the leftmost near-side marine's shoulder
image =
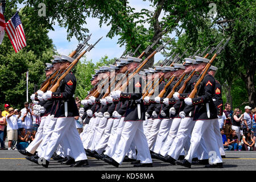
[(64, 71), (63, 73), (61, 73), (59, 79), (56, 81), (56, 84), (53, 85), (52, 88), (50, 89), (51, 92), (56, 92), (57, 88), (59, 88), (59, 86), (60, 86), (60, 81), (63, 80), (63, 78), (68, 75), (68, 73), (71, 71), (71, 69), (72, 69), (73, 67), (75, 67), (75, 65), (78, 63), (79, 59), (80, 59), (82, 56), (84, 56), (84, 54), (85, 54), (86, 52), (89, 52), (92, 48), (94, 48), (94, 46), (95, 46), (102, 38), (103, 38), (103, 36), (102, 36), (100, 39), (98, 39), (97, 42), (94, 43), (93, 45), (90, 44), (90, 46), (89, 46), (88, 48), (86, 48), (85, 51), (82, 52), (82, 53), (68, 66), (68, 68), (65, 69), (65, 71)]

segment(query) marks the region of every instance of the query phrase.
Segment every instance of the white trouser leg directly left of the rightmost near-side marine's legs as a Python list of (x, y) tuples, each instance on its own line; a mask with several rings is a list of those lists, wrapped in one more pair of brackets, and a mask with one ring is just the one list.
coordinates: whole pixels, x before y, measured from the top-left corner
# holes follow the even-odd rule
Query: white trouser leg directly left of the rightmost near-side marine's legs
[(177, 135), (174, 142), (172, 142), (170, 149), (168, 150), (169, 156), (175, 160), (179, 158), (185, 143), (187, 143), (187, 140), (190, 138), (194, 125), (195, 121), (193, 121), (193, 118), (185, 117), (181, 119)]

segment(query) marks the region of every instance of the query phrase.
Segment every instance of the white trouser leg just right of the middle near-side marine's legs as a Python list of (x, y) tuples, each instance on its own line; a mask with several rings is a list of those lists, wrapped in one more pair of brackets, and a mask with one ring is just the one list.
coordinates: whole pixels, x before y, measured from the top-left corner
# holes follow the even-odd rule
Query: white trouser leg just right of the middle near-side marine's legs
[(148, 134), (147, 143), (150, 150), (152, 150), (154, 147), (156, 137), (158, 136), (161, 120), (162, 119), (154, 119), (150, 133)]

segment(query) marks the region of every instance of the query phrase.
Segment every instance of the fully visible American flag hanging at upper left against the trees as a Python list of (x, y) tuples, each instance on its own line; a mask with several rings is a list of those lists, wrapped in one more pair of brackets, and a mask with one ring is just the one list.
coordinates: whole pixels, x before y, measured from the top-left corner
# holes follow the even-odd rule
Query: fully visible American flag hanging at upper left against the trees
[(9, 39), (11, 40), (11, 44), (13, 44), (15, 52), (18, 52), (20, 49), (27, 46), (23, 26), (18, 15), (18, 11), (15, 13), (13, 18), (11, 18), (6, 23), (5, 31), (6, 34), (9, 36)]

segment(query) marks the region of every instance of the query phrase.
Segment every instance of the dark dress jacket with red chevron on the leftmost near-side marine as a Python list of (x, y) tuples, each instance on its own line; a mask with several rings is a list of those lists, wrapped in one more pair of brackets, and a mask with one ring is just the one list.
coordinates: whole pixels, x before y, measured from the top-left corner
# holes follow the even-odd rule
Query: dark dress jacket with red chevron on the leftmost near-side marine
[(64, 102), (68, 105), (68, 116), (76, 117), (79, 116), (79, 110), (75, 102), (73, 95), (76, 90), (76, 77), (73, 73), (68, 73), (67, 76), (63, 78), (60, 82), (60, 86), (56, 92), (52, 92), (53, 106), (51, 110), (51, 115), (53, 114), (55, 118), (65, 117), (65, 107)]

